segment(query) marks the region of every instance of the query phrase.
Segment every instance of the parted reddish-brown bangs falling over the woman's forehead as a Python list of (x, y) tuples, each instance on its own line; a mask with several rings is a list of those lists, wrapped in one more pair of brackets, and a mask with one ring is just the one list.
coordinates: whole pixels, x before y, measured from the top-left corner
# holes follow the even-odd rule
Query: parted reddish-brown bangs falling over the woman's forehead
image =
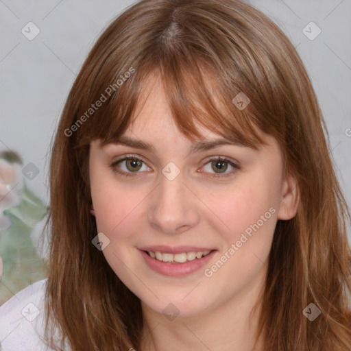
[(173, 56), (157, 64), (152, 61), (136, 66), (134, 76), (80, 128), (80, 145), (95, 139), (100, 139), (101, 145), (116, 142), (138, 117), (151, 92), (147, 82), (156, 77), (162, 82), (175, 124), (187, 138), (206, 138), (198, 124), (229, 141), (258, 149), (263, 140), (250, 106), (250, 93), (233, 88), (233, 84), (226, 86), (218, 71), (197, 62), (197, 58), (185, 62)]

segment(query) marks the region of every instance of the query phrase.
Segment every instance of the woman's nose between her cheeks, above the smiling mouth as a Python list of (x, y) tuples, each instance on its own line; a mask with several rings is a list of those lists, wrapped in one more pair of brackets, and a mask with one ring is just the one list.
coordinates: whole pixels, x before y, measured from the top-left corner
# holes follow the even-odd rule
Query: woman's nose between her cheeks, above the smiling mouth
[(184, 184), (182, 173), (174, 180), (160, 176), (160, 184), (152, 192), (147, 219), (150, 226), (165, 234), (189, 230), (199, 222), (195, 195)]

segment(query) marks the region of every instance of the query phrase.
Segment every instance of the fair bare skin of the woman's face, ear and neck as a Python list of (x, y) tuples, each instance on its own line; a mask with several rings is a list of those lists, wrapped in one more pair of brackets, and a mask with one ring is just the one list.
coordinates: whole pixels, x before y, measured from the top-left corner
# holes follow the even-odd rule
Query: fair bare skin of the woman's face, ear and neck
[[(162, 84), (154, 77), (138, 117), (125, 136), (154, 146), (154, 152), (112, 143), (90, 144), (91, 213), (97, 228), (110, 240), (103, 250), (110, 267), (141, 299), (145, 326), (139, 350), (261, 350), (254, 348), (260, 296), (265, 285), (267, 259), (278, 219), (291, 219), (298, 207), (293, 177), (285, 175), (278, 143), (254, 150), (221, 145), (189, 154), (192, 141), (175, 125)], [(219, 135), (199, 126), (206, 141)], [(121, 156), (143, 158), (138, 173), (125, 177)], [(215, 178), (210, 158), (222, 156), (228, 177)], [(180, 174), (169, 180), (162, 169), (173, 162)], [(219, 173), (222, 174), (222, 173)], [(204, 269), (221, 258), (232, 243), (261, 215), (274, 208), (263, 225), (212, 276)], [(158, 274), (144, 261), (138, 247), (195, 245), (217, 250), (206, 267), (192, 274), (171, 277)], [(257, 309), (252, 310), (258, 302)], [(163, 315), (170, 303), (178, 308), (173, 320)], [(253, 312), (252, 312), (253, 311)], [(252, 312), (252, 319), (250, 313)]]

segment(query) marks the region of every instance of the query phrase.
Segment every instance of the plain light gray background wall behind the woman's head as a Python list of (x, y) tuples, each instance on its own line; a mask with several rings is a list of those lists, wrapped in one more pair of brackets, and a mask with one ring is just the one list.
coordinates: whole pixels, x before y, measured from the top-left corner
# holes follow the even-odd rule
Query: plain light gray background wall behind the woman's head
[[(38, 175), (27, 184), (47, 204), (48, 152), (71, 84), (101, 31), (133, 2), (0, 0), (0, 151), (14, 149), (24, 165), (33, 162), (38, 167)], [(297, 46), (324, 112), (337, 175), (350, 206), (351, 1), (250, 3)], [(21, 32), (30, 21), (40, 29), (33, 40)], [(311, 21), (322, 30), (314, 40), (304, 34), (316, 33), (315, 27), (306, 27)]]

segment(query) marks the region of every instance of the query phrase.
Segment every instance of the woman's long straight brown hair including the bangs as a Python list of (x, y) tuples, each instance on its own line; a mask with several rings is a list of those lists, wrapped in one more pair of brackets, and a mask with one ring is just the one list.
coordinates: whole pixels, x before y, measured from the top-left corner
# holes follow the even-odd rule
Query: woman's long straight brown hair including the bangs
[[(298, 213), (278, 221), (269, 255), (259, 319), (265, 350), (350, 351), (350, 213), (322, 112), (288, 38), (239, 0), (140, 1), (90, 51), (51, 156), (47, 326), (58, 327), (73, 351), (141, 343), (140, 301), (91, 243), (97, 228), (89, 210), (88, 155), (94, 139), (109, 143), (125, 132), (152, 73), (162, 79), (184, 135), (199, 137), (197, 121), (257, 145), (259, 128), (276, 138), (298, 182)], [(232, 103), (238, 93), (251, 101), (243, 110)], [(101, 104), (93, 108), (95, 101)], [(322, 312), (314, 322), (302, 315), (311, 302)]]

